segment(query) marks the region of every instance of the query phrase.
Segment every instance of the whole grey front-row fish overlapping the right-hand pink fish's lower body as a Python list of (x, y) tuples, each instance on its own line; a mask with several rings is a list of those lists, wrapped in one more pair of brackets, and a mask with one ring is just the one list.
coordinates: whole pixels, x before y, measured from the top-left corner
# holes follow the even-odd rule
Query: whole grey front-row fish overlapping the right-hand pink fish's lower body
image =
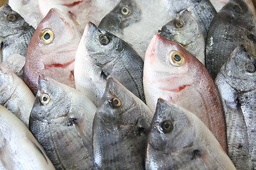
[(196, 115), (159, 98), (146, 145), (146, 169), (235, 169), (235, 166)]

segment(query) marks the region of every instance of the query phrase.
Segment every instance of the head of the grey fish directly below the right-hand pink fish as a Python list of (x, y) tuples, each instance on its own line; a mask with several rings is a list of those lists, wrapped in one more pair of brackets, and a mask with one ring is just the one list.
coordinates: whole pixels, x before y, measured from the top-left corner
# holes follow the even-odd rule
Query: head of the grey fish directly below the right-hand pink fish
[(152, 149), (152, 153), (161, 152), (159, 154), (168, 155), (176, 150), (191, 147), (196, 138), (192, 123), (184, 110), (159, 98), (151, 123), (147, 151)]

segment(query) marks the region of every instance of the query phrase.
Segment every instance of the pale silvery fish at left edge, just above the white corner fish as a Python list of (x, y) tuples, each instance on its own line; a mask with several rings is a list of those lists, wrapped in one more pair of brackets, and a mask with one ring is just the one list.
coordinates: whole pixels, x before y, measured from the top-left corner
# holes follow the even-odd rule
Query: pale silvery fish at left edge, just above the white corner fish
[(28, 127), (35, 96), (14, 72), (0, 64), (0, 104), (16, 115)]

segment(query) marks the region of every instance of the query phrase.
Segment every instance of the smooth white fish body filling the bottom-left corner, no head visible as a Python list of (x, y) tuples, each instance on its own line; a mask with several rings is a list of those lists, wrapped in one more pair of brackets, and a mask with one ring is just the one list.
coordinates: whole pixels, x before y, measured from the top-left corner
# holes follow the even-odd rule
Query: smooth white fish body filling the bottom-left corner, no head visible
[(28, 128), (0, 106), (0, 169), (55, 169)]

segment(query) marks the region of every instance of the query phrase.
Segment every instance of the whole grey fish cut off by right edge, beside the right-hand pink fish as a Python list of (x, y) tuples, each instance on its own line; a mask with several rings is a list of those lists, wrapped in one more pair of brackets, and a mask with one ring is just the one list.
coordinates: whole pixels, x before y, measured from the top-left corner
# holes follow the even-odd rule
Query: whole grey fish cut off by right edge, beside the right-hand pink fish
[(256, 167), (255, 67), (255, 58), (238, 45), (215, 79), (225, 113), (228, 156), (237, 169)]

